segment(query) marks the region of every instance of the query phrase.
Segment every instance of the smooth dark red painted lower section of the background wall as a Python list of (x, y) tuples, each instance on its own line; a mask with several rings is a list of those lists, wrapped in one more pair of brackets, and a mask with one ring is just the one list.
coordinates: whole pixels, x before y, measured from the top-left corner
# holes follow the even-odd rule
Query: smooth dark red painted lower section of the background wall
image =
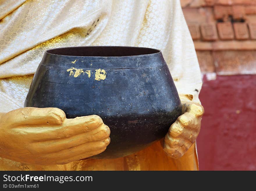
[(256, 75), (204, 77), (200, 170), (256, 170)]

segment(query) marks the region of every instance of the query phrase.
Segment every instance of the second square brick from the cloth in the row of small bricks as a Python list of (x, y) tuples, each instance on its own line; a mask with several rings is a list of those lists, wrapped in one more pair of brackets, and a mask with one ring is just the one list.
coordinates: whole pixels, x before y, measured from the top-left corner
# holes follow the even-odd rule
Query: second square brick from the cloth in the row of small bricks
[(218, 39), (215, 23), (205, 23), (200, 26), (202, 39), (206, 41), (213, 41)]

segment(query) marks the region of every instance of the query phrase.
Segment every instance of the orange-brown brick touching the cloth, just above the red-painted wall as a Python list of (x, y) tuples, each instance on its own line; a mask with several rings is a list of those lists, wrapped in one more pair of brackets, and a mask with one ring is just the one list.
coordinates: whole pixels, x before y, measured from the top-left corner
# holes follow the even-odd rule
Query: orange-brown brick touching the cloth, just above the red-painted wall
[(196, 51), (201, 72), (215, 72), (211, 51)]

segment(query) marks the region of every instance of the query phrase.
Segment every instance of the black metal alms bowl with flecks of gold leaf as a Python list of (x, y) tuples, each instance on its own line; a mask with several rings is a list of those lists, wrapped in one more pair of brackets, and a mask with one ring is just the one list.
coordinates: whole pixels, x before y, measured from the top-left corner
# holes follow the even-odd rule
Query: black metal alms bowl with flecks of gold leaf
[(163, 138), (181, 102), (161, 51), (141, 47), (66, 47), (45, 52), (25, 107), (56, 107), (67, 118), (99, 115), (118, 158)]

